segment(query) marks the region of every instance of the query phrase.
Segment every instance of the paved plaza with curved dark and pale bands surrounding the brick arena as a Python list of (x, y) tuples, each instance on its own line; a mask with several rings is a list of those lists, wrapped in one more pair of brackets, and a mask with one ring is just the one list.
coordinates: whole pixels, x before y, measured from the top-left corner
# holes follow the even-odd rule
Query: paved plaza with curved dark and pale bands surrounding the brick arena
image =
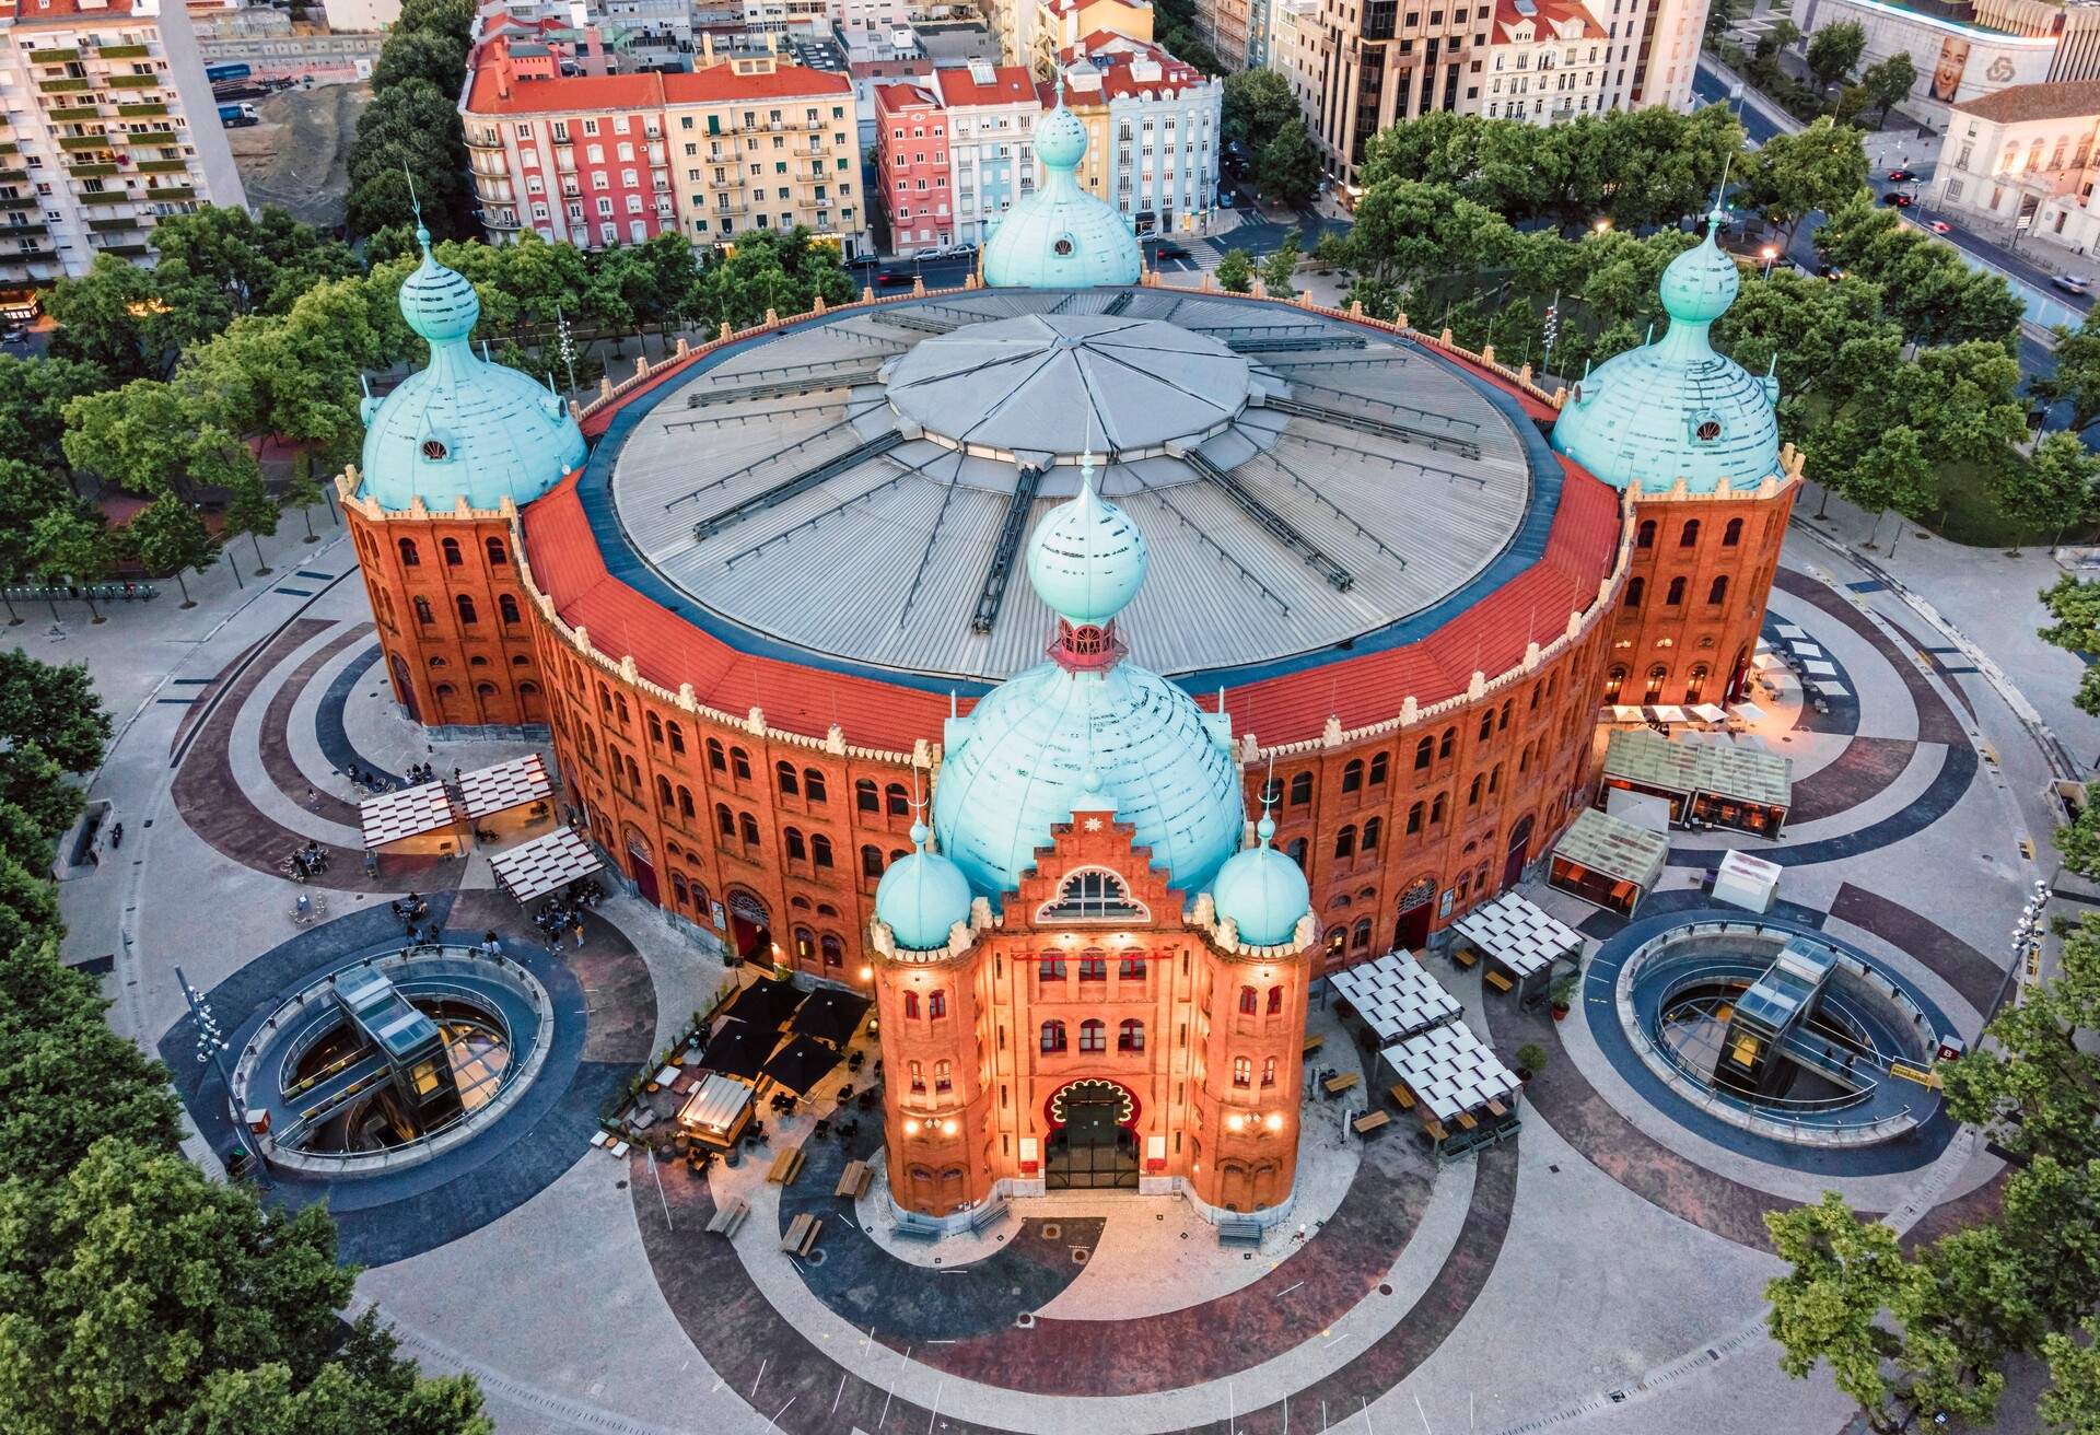
[[(1804, 1151), (1703, 1118), (1625, 1048), (1611, 973), (1646, 931), (1707, 906), (1699, 876), (1726, 845), (1709, 834), (1678, 834), (1632, 927), (1527, 889), (1586, 937), (1567, 1021), (1432, 956), (1504, 1059), (1548, 1051), (1518, 1139), (1438, 1168), (1411, 1122), (1344, 1135), (1344, 1107), (1308, 1082), (1300, 1208), (1258, 1250), (1220, 1248), (1180, 1204), (1077, 1191), (1016, 1202), (981, 1238), (905, 1246), (880, 1202), (832, 1195), (848, 1160), (880, 1164), (876, 1122), (808, 1141), (788, 1187), (764, 1160), (706, 1177), (645, 1149), (615, 1160), (590, 1143), (601, 1114), (733, 977), (628, 895), (598, 906), (582, 948), (548, 954), (479, 855), (368, 874), (351, 767), (472, 769), (523, 744), (430, 744), (393, 710), (336, 534), (242, 590), (206, 580), (193, 611), (13, 628), (36, 656), (88, 660), (120, 725), (92, 796), (128, 840), (63, 885), (69, 956), (107, 962), (113, 1019), (181, 1057), (176, 964), (239, 1040), (315, 973), (399, 945), (386, 903), (407, 889), (447, 935), (494, 929), (531, 954), (556, 1038), (517, 1107), (426, 1166), (275, 1185), (330, 1200), (346, 1259), (368, 1267), (359, 1298), (407, 1353), (475, 1372), (504, 1435), (1840, 1431), (1846, 1401), (1823, 1376), (1783, 1378), (1762, 1334), (1760, 1290), (1781, 1269), (1762, 1214), (1838, 1189), (1922, 1238), (1991, 1210), (1997, 1162), (1970, 1132), (1928, 1120), (1888, 1145)], [(1930, 565), (1905, 565), (1905, 582), (1930, 592)], [(1964, 578), (1947, 622), (1980, 582)], [(1974, 653), (1838, 546), (1796, 534), (1772, 622), (1808, 632), (1852, 698), (1816, 712), (1791, 681), (1758, 695), (1760, 733), (1793, 758), (1796, 811), (1781, 843), (1743, 845), (1783, 864), (1785, 920), (1900, 973), (1974, 1038), (2008, 990), (2026, 889), (2054, 870), (2041, 750)], [(2014, 622), (1976, 637), (2024, 681), (2035, 649)], [(332, 853), (307, 889), (328, 914), (298, 927), (277, 864), (307, 840)], [(1312, 1021), (1323, 1061), (1357, 1059), (1329, 1008)], [(210, 1162), (231, 1141), (223, 1088), (170, 1065)], [(731, 1200), (750, 1219), (733, 1240), (708, 1233)], [(798, 1214), (823, 1219), (806, 1259), (779, 1250)]]

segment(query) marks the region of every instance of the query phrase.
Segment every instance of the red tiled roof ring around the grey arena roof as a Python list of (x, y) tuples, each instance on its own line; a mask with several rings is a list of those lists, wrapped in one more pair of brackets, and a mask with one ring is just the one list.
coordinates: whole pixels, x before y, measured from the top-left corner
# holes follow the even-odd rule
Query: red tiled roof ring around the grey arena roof
[[(666, 368), (622, 403), (672, 382), (682, 368)], [(1554, 416), (1552, 405), (1499, 374), (1466, 368), (1514, 395), (1531, 418)], [(613, 412), (592, 414), (584, 433), (603, 435)], [(1426, 706), (1464, 693), (1474, 672), (1506, 672), (1522, 662), (1527, 643), (1544, 647), (1567, 632), (1569, 613), (1596, 599), (1598, 580), (1611, 571), (1619, 496), (1567, 458), (1560, 466), (1560, 508), (1537, 563), (1426, 639), (1228, 689), (1235, 729), (1279, 744), (1319, 735), (1329, 714), (1344, 727), (1382, 723), (1405, 698)], [(598, 651), (632, 653), (651, 683), (672, 691), (691, 683), (699, 702), (729, 712), (756, 704), (775, 727), (811, 737), (838, 723), (846, 742), (863, 746), (903, 750), (918, 737), (939, 740), (947, 716), (941, 693), (739, 653), (611, 578), (573, 479), (525, 508), (525, 550), (563, 622), (590, 628)]]

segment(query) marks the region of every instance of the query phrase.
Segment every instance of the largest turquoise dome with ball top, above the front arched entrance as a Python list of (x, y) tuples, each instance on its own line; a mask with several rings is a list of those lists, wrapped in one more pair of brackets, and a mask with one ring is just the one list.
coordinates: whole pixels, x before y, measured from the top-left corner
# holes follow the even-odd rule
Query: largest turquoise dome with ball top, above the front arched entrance
[(1117, 822), (1178, 891), (1210, 887), (1245, 826), (1231, 719), (1100, 632), (1144, 582), (1144, 542), (1090, 473), (1037, 525), (1029, 580), (1067, 626), (1048, 662), (949, 719), (932, 794), (941, 851), (1000, 906), (1054, 826)]

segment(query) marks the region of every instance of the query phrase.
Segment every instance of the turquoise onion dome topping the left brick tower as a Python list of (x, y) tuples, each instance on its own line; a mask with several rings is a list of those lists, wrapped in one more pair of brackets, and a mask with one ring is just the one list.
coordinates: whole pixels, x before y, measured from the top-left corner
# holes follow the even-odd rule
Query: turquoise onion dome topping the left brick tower
[(420, 498), (437, 513), (519, 506), (584, 466), (584, 433), (569, 405), (525, 374), (468, 345), (481, 300), (466, 275), (430, 254), (401, 284), (401, 317), (430, 345), (430, 361), (384, 399), (365, 399), (363, 487), (382, 508)]

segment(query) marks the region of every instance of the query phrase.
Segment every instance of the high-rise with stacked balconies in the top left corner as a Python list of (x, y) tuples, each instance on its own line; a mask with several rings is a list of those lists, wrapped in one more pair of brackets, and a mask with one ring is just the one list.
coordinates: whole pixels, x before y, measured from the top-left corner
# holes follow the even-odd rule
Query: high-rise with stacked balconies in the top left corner
[(0, 282), (143, 261), (160, 219), (246, 204), (178, 2), (0, 0)]

